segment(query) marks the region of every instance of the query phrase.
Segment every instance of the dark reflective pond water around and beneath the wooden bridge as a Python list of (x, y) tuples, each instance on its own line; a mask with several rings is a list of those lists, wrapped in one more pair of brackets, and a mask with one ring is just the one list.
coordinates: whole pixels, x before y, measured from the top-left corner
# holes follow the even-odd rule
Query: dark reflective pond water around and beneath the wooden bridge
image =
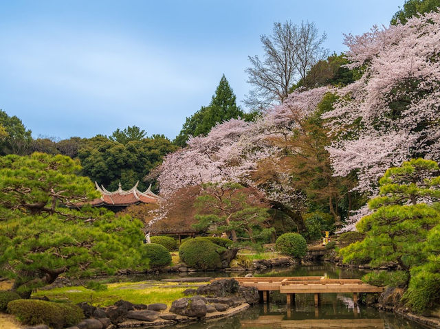
[[(313, 266), (297, 266), (290, 269), (254, 273), (262, 276), (303, 276), (325, 275), (330, 278), (360, 278), (366, 271), (360, 269), (342, 269), (330, 263)], [(206, 272), (192, 273), (197, 277), (234, 277), (245, 273)], [(173, 278), (182, 275), (159, 275), (148, 278)], [(421, 329), (426, 328), (413, 321), (392, 313), (380, 313), (375, 308), (363, 305), (355, 306), (352, 294), (322, 294), (320, 306), (314, 306), (314, 295), (296, 295), (295, 304), (287, 306), (286, 297), (271, 292), (270, 303), (253, 306), (238, 315), (209, 322), (199, 322), (186, 326), (167, 328), (185, 329), (278, 329), (278, 328), (383, 328), (383, 329)]]

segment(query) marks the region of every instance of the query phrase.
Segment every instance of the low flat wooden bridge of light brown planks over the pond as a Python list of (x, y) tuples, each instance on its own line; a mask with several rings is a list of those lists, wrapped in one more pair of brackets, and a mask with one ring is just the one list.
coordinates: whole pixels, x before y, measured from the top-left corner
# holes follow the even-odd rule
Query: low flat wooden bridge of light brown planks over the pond
[[(214, 280), (224, 279), (217, 278)], [(313, 293), (315, 306), (320, 303), (321, 293), (353, 293), (358, 303), (358, 293), (382, 293), (384, 288), (365, 284), (358, 279), (328, 279), (327, 277), (234, 277), (241, 286), (254, 286), (262, 295), (263, 302), (269, 302), (270, 291), (279, 291), (287, 296), (287, 304), (295, 301), (298, 293)]]

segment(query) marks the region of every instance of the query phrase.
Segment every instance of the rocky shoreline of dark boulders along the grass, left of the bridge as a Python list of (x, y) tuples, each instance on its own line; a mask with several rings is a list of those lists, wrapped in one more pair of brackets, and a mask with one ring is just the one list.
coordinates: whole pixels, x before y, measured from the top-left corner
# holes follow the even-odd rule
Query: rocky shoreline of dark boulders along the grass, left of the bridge
[[(187, 289), (168, 309), (166, 304), (132, 304), (124, 300), (112, 306), (96, 308), (87, 302), (78, 304), (87, 319), (67, 329), (148, 328), (188, 324), (230, 317), (260, 302), (254, 287), (239, 286), (233, 279), (216, 280), (197, 289)], [(30, 327), (46, 329), (46, 326)]]

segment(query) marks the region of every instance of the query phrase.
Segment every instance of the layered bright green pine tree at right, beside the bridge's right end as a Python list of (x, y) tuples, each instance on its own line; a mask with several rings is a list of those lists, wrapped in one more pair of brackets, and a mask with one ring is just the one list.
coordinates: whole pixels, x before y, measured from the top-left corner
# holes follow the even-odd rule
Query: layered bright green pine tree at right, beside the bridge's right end
[(379, 196), (369, 202), (373, 214), (357, 225), (366, 238), (340, 250), (344, 262), (370, 258), (371, 265), (380, 266), (397, 261), (404, 271), (424, 262), (428, 231), (440, 223), (439, 210), (424, 203), (440, 197), (438, 170), (437, 163), (423, 159), (388, 169)]

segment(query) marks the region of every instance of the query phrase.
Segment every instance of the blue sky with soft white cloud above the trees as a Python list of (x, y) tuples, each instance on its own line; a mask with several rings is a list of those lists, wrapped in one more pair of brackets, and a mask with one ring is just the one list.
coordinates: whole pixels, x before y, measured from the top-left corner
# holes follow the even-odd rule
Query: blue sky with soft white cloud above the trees
[(404, 0), (0, 0), (0, 109), (34, 137), (139, 126), (173, 139), (224, 73), (239, 105), (274, 22), (315, 22), (325, 47), (389, 25)]

